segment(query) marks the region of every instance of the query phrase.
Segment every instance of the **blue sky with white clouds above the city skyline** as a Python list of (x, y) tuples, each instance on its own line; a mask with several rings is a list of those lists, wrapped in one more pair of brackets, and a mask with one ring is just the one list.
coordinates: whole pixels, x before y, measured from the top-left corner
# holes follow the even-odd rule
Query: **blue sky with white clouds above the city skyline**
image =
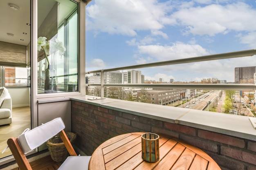
[[(86, 7), (86, 71), (256, 49), (255, 0), (92, 0)], [(256, 56), (138, 68), (168, 82), (216, 77)]]

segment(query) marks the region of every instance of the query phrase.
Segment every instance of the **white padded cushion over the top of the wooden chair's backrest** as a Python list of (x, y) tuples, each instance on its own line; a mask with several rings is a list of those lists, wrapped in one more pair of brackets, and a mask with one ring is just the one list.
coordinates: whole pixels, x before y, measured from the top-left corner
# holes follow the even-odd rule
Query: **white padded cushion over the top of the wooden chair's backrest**
[(25, 154), (41, 146), (48, 139), (54, 137), (65, 128), (60, 117), (53, 119), (41, 126), (29, 130), (18, 137), (18, 142)]

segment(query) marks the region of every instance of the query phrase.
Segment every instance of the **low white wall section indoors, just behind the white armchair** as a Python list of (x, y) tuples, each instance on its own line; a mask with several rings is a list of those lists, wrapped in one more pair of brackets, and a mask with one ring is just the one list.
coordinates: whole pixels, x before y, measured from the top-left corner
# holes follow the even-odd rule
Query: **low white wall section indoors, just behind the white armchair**
[(29, 89), (30, 88), (8, 88), (13, 108), (30, 106)]

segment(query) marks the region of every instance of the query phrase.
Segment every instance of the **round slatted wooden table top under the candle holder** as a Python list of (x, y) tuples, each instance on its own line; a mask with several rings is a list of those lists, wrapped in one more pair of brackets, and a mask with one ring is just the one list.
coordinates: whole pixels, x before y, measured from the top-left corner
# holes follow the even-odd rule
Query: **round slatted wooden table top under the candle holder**
[(127, 133), (101, 144), (92, 154), (89, 170), (221, 170), (204, 151), (179, 139), (159, 138), (159, 161), (141, 158), (141, 135)]

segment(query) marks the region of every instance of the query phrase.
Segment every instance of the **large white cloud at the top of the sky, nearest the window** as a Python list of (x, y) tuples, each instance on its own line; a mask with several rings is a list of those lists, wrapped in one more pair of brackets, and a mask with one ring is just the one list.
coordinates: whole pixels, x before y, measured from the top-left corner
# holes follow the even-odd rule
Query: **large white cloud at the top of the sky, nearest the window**
[[(95, 0), (88, 5), (87, 30), (135, 36), (139, 30), (159, 30), (166, 17), (167, 6), (157, 0)], [(162, 36), (165, 36), (162, 33)]]

